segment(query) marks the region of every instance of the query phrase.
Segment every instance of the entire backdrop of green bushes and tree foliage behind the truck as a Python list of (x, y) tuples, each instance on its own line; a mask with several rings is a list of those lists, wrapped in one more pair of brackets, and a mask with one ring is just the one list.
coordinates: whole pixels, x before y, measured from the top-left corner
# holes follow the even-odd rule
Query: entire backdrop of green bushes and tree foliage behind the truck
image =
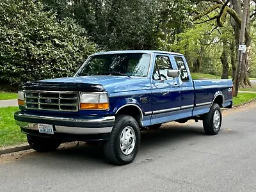
[[(221, 76), (223, 42), (227, 42), (229, 53), (234, 38), (230, 15), (236, 14), (230, 13), (231, 7), (223, 8), (225, 2), (1, 1), (0, 83), (72, 76), (88, 54), (124, 49), (181, 52), (191, 71)], [(251, 10), (254, 12), (254, 4)], [(252, 24), (250, 75), (253, 77), (256, 77), (255, 34)]]

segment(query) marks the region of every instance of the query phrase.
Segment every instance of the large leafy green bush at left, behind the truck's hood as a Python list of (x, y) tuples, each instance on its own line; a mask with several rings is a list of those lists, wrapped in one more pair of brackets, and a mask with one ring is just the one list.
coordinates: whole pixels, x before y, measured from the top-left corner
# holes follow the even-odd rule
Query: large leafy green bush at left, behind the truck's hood
[(58, 22), (38, 1), (0, 1), (0, 15), (0, 81), (72, 76), (96, 51), (74, 20)]

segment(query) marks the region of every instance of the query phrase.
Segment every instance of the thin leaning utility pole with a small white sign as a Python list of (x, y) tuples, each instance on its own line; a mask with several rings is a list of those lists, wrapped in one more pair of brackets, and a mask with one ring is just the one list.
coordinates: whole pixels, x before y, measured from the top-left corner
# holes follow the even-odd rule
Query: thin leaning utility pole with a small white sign
[(241, 29), (240, 29), (240, 35), (239, 35), (239, 49), (238, 49), (239, 59), (237, 61), (236, 77), (234, 81), (234, 95), (233, 95), (234, 97), (237, 97), (239, 83), (241, 81), (241, 67), (242, 67), (241, 65), (243, 60), (243, 54), (246, 51), (246, 45), (244, 45), (244, 31), (246, 26), (248, 9), (249, 9), (249, 0), (244, 0), (243, 16), (241, 20)]

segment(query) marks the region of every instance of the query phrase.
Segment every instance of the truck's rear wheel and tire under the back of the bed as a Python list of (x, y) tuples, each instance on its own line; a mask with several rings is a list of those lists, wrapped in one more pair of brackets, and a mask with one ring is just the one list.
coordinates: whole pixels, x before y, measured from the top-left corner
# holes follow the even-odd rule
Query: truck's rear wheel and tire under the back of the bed
[(221, 109), (216, 103), (212, 104), (209, 113), (205, 114), (203, 125), (206, 134), (215, 135), (218, 134), (221, 128)]

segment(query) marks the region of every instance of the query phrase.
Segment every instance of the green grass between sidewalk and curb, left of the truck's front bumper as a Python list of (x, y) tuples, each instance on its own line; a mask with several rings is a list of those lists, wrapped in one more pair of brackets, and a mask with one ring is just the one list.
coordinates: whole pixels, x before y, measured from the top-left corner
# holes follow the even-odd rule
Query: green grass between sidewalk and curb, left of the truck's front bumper
[(13, 113), (18, 107), (0, 108), (0, 147), (26, 142), (26, 135), (15, 124)]

